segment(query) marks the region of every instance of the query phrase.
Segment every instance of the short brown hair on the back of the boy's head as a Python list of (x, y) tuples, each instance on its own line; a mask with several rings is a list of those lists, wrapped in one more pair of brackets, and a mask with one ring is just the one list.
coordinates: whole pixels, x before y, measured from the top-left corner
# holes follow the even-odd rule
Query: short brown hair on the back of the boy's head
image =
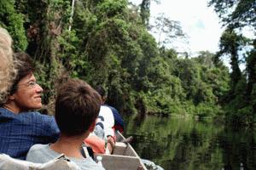
[(79, 79), (69, 79), (58, 90), (55, 121), (61, 133), (76, 136), (88, 131), (96, 121), (101, 97), (95, 89)]

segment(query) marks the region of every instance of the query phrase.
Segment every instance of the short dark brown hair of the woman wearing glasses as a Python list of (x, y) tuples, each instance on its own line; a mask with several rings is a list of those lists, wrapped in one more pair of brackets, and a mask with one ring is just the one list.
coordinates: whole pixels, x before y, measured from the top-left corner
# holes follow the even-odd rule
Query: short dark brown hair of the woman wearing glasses
[(20, 80), (35, 71), (32, 58), (28, 54), (15, 53), (14, 59), (17, 61), (15, 62), (15, 69), (17, 73), (13, 86), (10, 89), (11, 95), (15, 94), (15, 92), (17, 91), (17, 84), (20, 82)]

